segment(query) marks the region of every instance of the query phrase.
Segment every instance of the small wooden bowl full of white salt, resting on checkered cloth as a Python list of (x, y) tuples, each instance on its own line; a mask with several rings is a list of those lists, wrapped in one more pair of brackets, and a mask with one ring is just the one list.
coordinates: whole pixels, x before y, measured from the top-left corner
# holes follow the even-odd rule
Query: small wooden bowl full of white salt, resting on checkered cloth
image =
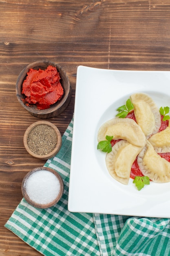
[(25, 175), (21, 190), (29, 204), (45, 209), (60, 200), (64, 191), (64, 182), (57, 171), (44, 166), (37, 167)]

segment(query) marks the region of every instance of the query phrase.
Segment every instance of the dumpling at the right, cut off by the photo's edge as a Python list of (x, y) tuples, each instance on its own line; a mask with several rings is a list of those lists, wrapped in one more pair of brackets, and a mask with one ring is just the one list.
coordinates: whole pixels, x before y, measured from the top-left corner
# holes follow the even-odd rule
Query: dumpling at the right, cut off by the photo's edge
[(152, 135), (148, 141), (157, 153), (170, 152), (170, 122), (165, 130)]

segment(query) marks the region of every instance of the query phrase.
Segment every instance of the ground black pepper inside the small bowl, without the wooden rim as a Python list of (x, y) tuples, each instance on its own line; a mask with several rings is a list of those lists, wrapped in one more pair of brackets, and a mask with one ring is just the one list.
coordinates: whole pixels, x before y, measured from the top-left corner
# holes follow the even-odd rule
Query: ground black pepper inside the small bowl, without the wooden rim
[(35, 126), (28, 135), (27, 144), (29, 149), (36, 155), (47, 155), (57, 145), (55, 130), (46, 124)]

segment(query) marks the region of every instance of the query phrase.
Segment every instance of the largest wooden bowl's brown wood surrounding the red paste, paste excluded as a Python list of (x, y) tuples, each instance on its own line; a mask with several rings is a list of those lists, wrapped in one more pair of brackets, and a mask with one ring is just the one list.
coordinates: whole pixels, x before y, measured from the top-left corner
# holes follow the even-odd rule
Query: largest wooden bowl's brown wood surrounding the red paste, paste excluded
[[(57, 71), (60, 73), (61, 79), (60, 83), (62, 84), (64, 95), (62, 96), (62, 99), (60, 101), (57, 101), (53, 105), (50, 106), (50, 108), (45, 110), (39, 110), (36, 105), (27, 106), (24, 102), (24, 95), (22, 92), (22, 83), (26, 79), (27, 72), (32, 68), (35, 70), (45, 70), (49, 65), (52, 65), (53, 67), (57, 68)], [(28, 66), (26, 66), (19, 74), (17, 82), (16, 82), (16, 96), (18, 98), (18, 101), (20, 102), (21, 106), (25, 108), (31, 115), (34, 117), (42, 118), (42, 119), (48, 119), (52, 117), (56, 117), (60, 115), (68, 106), (68, 103), (71, 100), (71, 86), (70, 81), (68, 79), (68, 76), (66, 72), (58, 65), (57, 63), (53, 63), (51, 61), (36, 61)]]

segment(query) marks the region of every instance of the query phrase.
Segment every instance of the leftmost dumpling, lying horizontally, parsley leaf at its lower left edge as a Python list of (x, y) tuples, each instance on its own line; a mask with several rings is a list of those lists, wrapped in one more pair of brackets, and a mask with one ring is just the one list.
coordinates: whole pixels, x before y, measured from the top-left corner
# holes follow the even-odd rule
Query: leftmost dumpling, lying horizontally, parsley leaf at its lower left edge
[(135, 146), (144, 146), (146, 137), (140, 126), (130, 118), (116, 117), (104, 123), (98, 131), (97, 140), (106, 139), (106, 135), (113, 139), (124, 139)]

